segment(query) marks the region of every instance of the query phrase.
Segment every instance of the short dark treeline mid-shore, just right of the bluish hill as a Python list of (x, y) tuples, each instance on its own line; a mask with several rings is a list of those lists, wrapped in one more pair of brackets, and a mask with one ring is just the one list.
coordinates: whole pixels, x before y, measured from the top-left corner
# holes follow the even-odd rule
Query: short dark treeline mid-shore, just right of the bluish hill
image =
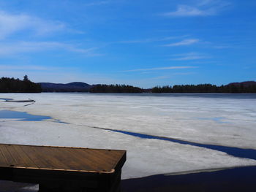
[(91, 93), (143, 93), (142, 88), (131, 85), (93, 85), (89, 90)]

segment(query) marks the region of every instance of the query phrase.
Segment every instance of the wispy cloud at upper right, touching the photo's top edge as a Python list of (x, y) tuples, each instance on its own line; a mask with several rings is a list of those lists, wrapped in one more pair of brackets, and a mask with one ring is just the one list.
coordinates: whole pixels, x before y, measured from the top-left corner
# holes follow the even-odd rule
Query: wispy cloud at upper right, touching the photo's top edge
[(217, 15), (218, 12), (229, 6), (230, 3), (221, 0), (200, 0), (197, 4), (179, 4), (176, 11), (165, 12), (169, 17), (190, 17)]

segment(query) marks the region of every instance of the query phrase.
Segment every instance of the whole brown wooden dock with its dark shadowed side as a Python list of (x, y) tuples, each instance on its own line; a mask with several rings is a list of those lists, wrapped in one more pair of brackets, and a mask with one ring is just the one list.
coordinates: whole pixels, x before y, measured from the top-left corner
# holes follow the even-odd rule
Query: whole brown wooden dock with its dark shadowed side
[(39, 191), (120, 191), (125, 150), (0, 144), (0, 180)]

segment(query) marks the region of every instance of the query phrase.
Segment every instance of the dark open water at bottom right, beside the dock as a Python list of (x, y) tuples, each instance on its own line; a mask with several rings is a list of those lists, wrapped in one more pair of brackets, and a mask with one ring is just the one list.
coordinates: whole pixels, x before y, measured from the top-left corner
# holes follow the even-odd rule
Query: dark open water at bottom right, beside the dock
[[(171, 166), (171, 165), (170, 165)], [(122, 192), (253, 192), (256, 166), (217, 172), (166, 176), (164, 174), (121, 180)]]

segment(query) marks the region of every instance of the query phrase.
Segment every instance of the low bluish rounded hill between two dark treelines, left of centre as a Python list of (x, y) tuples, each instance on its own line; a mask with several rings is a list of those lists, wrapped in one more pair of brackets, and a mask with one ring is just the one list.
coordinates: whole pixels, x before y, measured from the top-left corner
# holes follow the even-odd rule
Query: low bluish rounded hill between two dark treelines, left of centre
[(91, 85), (85, 82), (52, 83), (39, 82), (42, 92), (89, 92)]

